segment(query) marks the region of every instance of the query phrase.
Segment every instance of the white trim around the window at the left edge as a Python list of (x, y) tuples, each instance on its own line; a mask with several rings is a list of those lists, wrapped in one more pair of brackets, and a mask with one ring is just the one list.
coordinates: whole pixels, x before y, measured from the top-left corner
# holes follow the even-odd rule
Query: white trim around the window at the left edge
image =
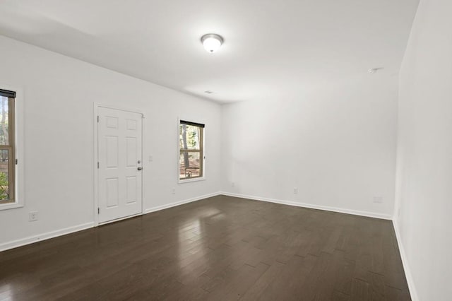
[(11, 85), (4, 85), (0, 83), (0, 88), (16, 92), (16, 201), (14, 203), (0, 204), (0, 211), (13, 208), (21, 208), (25, 206), (25, 157), (24, 157), (24, 132), (25, 132), (25, 117), (24, 107), (25, 98), (23, 88), (14, 87)]

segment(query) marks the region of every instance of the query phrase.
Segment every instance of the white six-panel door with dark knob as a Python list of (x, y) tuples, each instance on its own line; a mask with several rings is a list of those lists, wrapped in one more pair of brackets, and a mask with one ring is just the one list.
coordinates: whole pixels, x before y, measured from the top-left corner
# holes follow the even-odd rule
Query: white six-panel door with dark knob
[(98, 108), (98, 221), (141, 213), (142, 115)]

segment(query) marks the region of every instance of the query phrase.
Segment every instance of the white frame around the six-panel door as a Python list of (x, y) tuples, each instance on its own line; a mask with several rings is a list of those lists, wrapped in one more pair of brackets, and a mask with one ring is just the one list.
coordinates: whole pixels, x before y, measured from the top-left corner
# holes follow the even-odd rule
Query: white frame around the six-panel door
[[(105, 107), (107, 109), (113, 109), (113, 110), (121, 110), (121, 111), (126, 111), (126, 112), (132, 112), (132, 113), (138, 113), (141, 114), (141, 118), (145, 118), (143, 112), (141, 112), (140, 110), (135, 110), (135, 109), (131, 109), (131, 108), (125, 108), (125, 107), (117, 107), (114, 105), (102, 105), (98, 102), (94, 102), (93, 103), (93, 131), (94, 131), (94, 141), (93, 141), (93, 183), (94, 183), (94, 207), (93, 207), (93, 213), (94, 213), (94, 226), (98, 226), (98, 225), (105, 225), (107, 223), (113, 223), (113, 222), (117, 222), (118, 220), (124, 220), (126, 218), (133, 218), (133, 216), (141, 216), (142, 214), (144, 214), (144, 209), (143, 209), (143, 203), (144, 203), (144, 172), (141, 174), (141, 213), (138, 213), (136, 215), (133, 216), (126, 216), (125, 218), (118, 218), (116, 220), (109, 220), (105, 223), (99, 223), (99, 214), (98, 214), (98, 208), (99, 208), (99, 169), (97, 168), (97, 162), (99, 162), (99, 153), (97, 151), (98, 149), (98, 141), (97, 139), (98, 137), (98, 127), (99, 124), (97, 123), (97, 116), (99, 114), (99, 108), (100, 107)], [(141, 122), (141, 156), (144, 158), (144, 130), (145, 130), (145, 126), (144, 126), (144, 122)], [(143, 160), (143, 158), (141, 158), (141, 162), (143, 162), (143, 165), (145, 163), (145, 160)]]

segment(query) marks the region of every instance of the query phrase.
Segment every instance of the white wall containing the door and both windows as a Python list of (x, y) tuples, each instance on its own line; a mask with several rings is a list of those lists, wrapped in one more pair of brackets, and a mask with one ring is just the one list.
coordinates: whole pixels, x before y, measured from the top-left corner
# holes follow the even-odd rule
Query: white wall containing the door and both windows
[[(0, 249), (93, 222), (93, 102), (145, 114), (145, 209), (219, 190), (220, 105), (2, 36), (0, 54), (0, 87), (25, 102), (25, 207), (0, 211)], [(177, 184), (177, 117), (206, 123), (206, 181)]]

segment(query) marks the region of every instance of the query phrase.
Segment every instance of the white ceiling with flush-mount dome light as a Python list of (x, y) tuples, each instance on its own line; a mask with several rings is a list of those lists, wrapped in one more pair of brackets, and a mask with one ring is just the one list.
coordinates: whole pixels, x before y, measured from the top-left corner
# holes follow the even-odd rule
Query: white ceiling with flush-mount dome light
[[(419, 0), (0, 0), (0, 34), (219, 102), (398, 71)], [(218, 33), (220, 51), (200, 38)], [(212, 90), (213, 94), (204, 91)]]

